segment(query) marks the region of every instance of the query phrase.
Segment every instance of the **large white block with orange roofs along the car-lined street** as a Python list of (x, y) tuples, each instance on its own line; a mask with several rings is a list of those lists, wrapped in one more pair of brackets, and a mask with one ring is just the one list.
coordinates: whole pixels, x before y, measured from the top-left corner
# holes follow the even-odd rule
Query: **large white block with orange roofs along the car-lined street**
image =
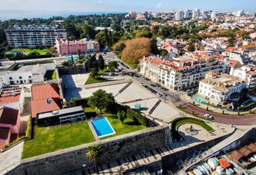
[[(154, 64), (154, 78), (152, 78), (149, 73), (152, 71), (147, 72), (149, 67), (153, 67), (151, 64), (147, 59), (141, 60), (141, 74), (172, 90), (195, 88), (199, 85), (199, 81), (205, 77), (205, 73), (214, 71), (219, 75), (225, 70), (225, 66), (220, 65), (214, 57), (195, 59), (178, 57), (166, 61), (158, 59), (158, 64)], [(158, 78), (156, 78), (156, 72), (158, 72)]]

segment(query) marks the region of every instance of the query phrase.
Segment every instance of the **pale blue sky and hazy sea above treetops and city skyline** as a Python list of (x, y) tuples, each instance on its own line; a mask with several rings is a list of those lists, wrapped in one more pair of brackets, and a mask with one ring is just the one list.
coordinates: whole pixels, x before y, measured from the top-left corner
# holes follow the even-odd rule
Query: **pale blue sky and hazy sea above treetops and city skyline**
[(88, 12), (193, 9), (256, 11), (256, 0), (0, 0), (0, 20), (84, 14)]

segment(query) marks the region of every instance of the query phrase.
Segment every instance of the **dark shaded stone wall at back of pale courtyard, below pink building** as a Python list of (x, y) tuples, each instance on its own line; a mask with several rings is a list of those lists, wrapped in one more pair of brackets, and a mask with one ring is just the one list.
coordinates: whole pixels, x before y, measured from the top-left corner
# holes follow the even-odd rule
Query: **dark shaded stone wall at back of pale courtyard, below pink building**
[(84, 69), (84, 65), (73, 65), (70, 67), (64, 67), (64, 66), (58, 66), (57, 69), (59, 69), (59, 75), (72, 75), (72, 74), (78, 74), (78, 73), (86, 73), (86, 70)]

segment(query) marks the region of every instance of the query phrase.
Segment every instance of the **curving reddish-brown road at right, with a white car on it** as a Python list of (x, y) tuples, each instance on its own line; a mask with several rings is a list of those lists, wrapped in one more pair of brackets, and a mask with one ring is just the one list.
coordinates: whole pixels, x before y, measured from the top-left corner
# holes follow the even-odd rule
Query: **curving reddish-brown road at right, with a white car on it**
[(256, 114), (249, 114), (247, 116), (228, 116), (222, 114), (215, 114), (209, 111), (202, 110), (197, 108), (191, 104), (183, 105), (183, 108), (186, 108), (189, 112), (195, 112), (199, 116), (203, 116), (205, 113), (211, 114), (214, 116), (214, 122), (220, 122), (224, 124), (232, 124), (232, 125), (241, 125), (241, 126), (249, 126), (249, 125), (256, 125)]

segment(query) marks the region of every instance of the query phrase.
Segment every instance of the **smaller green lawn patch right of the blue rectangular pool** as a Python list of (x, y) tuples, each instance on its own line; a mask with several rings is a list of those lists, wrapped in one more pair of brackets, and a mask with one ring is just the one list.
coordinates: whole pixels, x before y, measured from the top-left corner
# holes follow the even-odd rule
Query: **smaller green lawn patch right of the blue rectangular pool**
[(113, 114), (104, 114), (104, 116), (106, 116), (106, 118), (108, 118), (108, 121), (110, 122), (110, 125), (115, 130), (116, 134), (115, 135), (109, 135), (109, 136), (106, 136), (106, 137), (102, 137), (102, 138), (100, 138), (100, 140), (107, 139), (107, 138), (110, 138), (110, 137), (115, 137), (117, 135), (124, 135), (124, 134), (127, 134), (127, 133), (133, 133), (135, 131), (139, 131), (139, 130), (147, 128), (143, 125), (126, 125), (126, 124), (123, 124), (121, 122), (121, 120), (119, 120), (118, 118), (110, 117), (110, 116), (115, 116)]

